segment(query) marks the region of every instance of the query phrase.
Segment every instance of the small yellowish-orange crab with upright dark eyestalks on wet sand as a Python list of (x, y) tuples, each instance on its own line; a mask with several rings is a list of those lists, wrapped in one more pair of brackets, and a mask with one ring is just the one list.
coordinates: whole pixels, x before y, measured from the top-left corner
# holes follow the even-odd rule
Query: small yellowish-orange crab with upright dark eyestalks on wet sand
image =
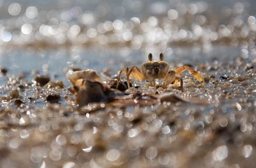
[(177, 85), (180, 82), (179, 89), (184, 90), (183, 80), (180, 77), (180, 73), (189, 70), (190, 73), (198, 80), (199, 82), (204, 82), (204, 78), (200, 73), (196, 72), (194, 68), (188, 65), (178, 66), (173, 70), (169, 69), (169, 63), (163, 61), (164, 55), (161, 53), (159, 55), (159, 61), (153, 61), (152, 54), (148, 54), (148, 61), (142, 63), (141, 70), (137, 66), (132, 66), (131, 68), (127, 67), (123, 70), (120, 70), (117, 78), (116, 88), (120, 83), (122, 74), (126, 74), (127, 86), (130, 88), (130, 77), (138, 80), (148, 80), (150, 86), (156, 86), (155, 79), (164, 79), (163, 88), (166, 88), (169, 84)]

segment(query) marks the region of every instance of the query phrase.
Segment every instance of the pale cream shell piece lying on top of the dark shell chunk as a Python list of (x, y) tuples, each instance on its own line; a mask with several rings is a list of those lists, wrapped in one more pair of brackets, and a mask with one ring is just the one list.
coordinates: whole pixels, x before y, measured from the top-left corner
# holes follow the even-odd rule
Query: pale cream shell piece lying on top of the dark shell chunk
[(101, 77), (94, 70), (81, 70), (81, 71), (70, 71), (66, 74), (67, 79), (73, 84), (76, 85), (76, 80), (84, 79), (90, 80), (92, 82), (102, 82)]

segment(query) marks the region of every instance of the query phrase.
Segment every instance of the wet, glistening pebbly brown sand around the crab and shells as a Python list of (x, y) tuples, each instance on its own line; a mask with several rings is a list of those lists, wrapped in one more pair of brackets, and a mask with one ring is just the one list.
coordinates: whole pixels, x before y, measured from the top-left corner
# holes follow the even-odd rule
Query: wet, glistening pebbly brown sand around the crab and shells
[[(215, 60), (195, 67), (205, 79), (204, 87), (198, 88), (200, 84), (184, 73), (184, 92), (139, 81), (132, 83), (139, 88), (126, 91), (171, 91), (187, 102), (167, 98), (149, 105), (100, 103), (102, 108), (88, 108), (91, 104), (85, 112), (74, 103), (71, 84), (51, 88), (28, 80), (29, 75), (1, 73), (6, 82), (1, 88), (2, 167), (253, 166), (255, 63), (237, 57), (230, 63)], [(150, 103), (148, 96), (142, 99)]]

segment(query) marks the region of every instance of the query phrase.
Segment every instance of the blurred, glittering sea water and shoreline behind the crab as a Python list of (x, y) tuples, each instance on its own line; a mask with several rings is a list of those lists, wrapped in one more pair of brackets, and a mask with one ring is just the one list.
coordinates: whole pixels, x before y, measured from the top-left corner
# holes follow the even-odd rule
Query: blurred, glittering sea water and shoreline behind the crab
[(61, 78), (74, 66), (116, 73), (148, 52), (174, 65), (253, 59), (255, 8), (253, 0), (0, 0), (0, 65)]

